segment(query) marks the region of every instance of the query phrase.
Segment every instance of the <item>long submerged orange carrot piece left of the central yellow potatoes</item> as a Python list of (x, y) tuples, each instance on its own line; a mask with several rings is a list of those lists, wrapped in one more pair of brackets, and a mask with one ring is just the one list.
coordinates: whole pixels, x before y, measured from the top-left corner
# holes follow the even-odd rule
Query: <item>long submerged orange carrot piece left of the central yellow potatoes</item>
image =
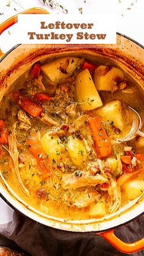
[(38, 141), (35, 137), (31, 137), (26, 139), (26, 144), (29, 148), (29, 152), (37, 160), (37, 164), (41, 170), (41, 176), (43, 178), (48, 178), (51, 176), (52, 165), (50, 159), (46, 156), (46, 153), (41, 148), (40, 141)]

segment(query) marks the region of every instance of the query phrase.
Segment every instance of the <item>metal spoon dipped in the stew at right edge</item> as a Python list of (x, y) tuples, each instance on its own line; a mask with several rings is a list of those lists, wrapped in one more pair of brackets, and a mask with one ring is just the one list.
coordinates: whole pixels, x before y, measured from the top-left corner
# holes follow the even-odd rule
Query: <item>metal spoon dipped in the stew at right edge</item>
[(131, 113), (133, 115), (133, 121), (131, 130), (129, 131), (128, 135), (126, 137), (123, 137), (122, 139), (117, 139), (117, 141), (131, 141), (131, 139), (134, 139), (137, 135), (144, 137), (144, 133), (140, 131), (142, 128), (142, 119), (140, 115), (135, 111), (135, 109), (128, 106), (129, 109), (131, 109)]

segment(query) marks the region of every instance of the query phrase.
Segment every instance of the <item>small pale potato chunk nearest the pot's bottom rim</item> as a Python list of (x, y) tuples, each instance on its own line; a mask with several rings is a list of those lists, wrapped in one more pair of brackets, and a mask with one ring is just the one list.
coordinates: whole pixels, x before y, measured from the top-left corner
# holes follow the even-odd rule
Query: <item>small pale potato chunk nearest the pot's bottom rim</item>
[(106, 202), (101, 199), (90, 209), (90, 217), (101, 218), (106, 214)]

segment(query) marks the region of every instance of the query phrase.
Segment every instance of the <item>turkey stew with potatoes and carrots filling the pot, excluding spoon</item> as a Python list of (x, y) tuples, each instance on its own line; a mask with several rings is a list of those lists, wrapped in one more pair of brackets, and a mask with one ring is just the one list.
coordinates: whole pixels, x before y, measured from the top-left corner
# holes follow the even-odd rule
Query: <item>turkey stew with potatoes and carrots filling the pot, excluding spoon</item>
[(144, 190), (144, 139), (129, 133), (142, 92), (120, 68), (79, 57), (35, 63), (2, 98), (0, 169), (37, 210), (104, 218)]

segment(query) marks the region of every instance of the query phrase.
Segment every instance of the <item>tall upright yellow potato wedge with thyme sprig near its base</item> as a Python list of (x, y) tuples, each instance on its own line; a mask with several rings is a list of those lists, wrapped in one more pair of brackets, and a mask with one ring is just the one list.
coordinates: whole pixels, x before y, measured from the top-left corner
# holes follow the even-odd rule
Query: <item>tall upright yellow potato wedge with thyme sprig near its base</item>
[(76, 77), (76, 97), (82, 111), (92, 110), (103, 105), (87, 68)]

